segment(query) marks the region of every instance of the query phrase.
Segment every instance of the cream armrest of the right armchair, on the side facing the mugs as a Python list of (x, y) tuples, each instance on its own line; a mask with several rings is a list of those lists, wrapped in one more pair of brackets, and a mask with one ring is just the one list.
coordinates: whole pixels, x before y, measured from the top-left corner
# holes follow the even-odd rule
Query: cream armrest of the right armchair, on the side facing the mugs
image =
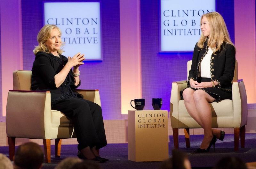
[(171, 92), (171, 103), (170, 103), (170, 118), (172, 128), (178, 126), (178, 107), (180, 100), (180, 91), (185, 89), (188, 86), (187, 80), (182, 80), (178, 82), (172, 82), (172, 92)]

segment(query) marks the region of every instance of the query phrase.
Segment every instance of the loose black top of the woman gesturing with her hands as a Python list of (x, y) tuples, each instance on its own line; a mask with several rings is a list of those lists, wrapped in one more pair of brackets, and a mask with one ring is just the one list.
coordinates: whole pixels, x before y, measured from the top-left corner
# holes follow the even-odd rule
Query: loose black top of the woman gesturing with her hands
[(72, 70), (69, 71), (65, 81), (56, 87), (54, 76), (63, 69), (68, 62), (68, 58), (60, 55), (60, 58), (45, 52), (37, 52), (36, 58), (32, 67), (31, 89), (37, 91), (50, 91), (52, 104), (61, 100), (69, 100), (69, 97), (81, 96), (75, 89), (81, 85), (75, 85), (75, 79), (72, 75)]

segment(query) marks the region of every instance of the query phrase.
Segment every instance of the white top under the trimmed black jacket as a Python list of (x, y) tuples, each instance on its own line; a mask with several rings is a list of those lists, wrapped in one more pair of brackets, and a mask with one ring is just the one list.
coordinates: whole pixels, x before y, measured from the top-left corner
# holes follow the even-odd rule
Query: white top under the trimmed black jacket
[(211, 78), (211, 56), (212, 56), (212, 49), (208, 48), (207, 54), (204, 56), (203, 60), (200, 63), (200, 73), (201, 77)]

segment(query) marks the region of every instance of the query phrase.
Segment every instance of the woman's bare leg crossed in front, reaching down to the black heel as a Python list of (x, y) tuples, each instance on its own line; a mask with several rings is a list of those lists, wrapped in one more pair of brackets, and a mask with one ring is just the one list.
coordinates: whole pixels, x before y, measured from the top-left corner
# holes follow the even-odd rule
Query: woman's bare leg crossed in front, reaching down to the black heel
[(215, 99), (203, 90), (196, 90), (194, 92), (194, 100), (198, 116), (204, 128), (204, 139), (200, 148), (206, 149), (212, 140), (212, 111), (209, 102)]

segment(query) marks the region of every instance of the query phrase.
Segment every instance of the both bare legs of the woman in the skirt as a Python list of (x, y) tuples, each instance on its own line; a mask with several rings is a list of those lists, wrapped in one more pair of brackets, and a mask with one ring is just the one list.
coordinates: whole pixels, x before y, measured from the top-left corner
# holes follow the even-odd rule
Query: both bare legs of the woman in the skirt
[(203, 90), (195, 91), (190, 88), (185, 89), (182, 95), (188, 114), (204, 129), (204, 139), (200, 148), (206, 149), (213, 135), (217, 136), (220, 132), (212, 129), (212, 111), (209, 103), (215, 99)]

